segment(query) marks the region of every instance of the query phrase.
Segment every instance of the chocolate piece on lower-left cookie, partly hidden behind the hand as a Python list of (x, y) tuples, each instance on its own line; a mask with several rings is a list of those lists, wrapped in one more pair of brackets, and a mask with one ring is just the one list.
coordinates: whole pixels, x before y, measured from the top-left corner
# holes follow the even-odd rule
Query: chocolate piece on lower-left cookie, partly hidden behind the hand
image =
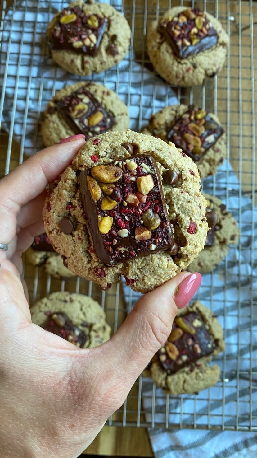
[(86, 342), (85, 334), (74, 326), (62, 312), (55, 312), (48, 315), (43, 328), (50, 333), (68, 340), (77, 347), (83, 347)]

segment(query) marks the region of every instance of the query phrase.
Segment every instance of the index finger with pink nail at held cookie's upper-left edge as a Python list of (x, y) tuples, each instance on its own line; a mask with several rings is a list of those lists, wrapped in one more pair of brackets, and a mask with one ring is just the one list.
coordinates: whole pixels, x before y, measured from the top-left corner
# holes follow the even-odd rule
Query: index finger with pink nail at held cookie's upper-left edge
[(85, 143), (83, 137), (48, 147), (28, 158), (0, 181), (0, 242), (16, 234), (16, 216), (22, 205), (38, 196), (72, 162)]

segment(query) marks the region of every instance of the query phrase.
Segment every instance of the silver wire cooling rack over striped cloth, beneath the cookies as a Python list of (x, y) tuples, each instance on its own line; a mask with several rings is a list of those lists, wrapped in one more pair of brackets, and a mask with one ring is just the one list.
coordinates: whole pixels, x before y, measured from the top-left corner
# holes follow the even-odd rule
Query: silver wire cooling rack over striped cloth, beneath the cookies
[[(257, 431), (257, 283), (255, 212), (255, 80), (257, 68), (257, 5), (252, 1), (177, 2), (112, 0), (132, 29), (129, 55), (117, 66), (93, 75), (129, 106), (130, 127), (147, 125), (151, 113), (167, 104), (198, 104), (218, 114), (227, 131), (227, 158), (220, 172), (204, 180), (203, 189), (227, 204), (241, 228), (238, 247), (214, 272), (203, 277), (198, 299), (219, 316), (225, 353), (216, 357), (221, 379), (198, 395), (172, 397), (141, 375), (124, 405), (108, 420), (116, 426), (152, 426)], [(150, 64), (145, 45), (147, 21), (176, 5), (197, 5), (218, 17), (230, 36), (227, 65), (202, 87), (170, 88)], [(45, 31), (62, 1), (2, 0), (0, 98), (2, 131), (0, 172), (8, 173), (26, 154), (42, 146), (40, 120), (56, 90), (79, 80), (51, 60)], [(1, 121), (0, 121), (1, 122)], [(53, 291), (70, 290), (98, 300), (115, 332), (132, 308), (136, 295), (122, 285), (103, 292), (82, 278), (56, 280), (43, 267), (25, 264), (31, 302)]]

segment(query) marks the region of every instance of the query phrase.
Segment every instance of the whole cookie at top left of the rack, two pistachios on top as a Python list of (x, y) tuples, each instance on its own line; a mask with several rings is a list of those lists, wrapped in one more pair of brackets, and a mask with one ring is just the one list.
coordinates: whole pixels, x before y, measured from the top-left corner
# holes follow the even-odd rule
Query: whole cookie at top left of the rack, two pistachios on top
[(129, 51), (131, 31), (111, 5), (75, 0), (48, 25), (48, 45), (55, 62), (74, 75), (101, 73)]

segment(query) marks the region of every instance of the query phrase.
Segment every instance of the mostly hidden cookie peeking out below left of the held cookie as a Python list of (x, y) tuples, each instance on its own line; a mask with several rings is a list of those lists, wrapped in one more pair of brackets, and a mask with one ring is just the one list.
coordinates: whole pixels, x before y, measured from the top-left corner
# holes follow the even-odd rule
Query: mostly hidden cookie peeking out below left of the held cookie
[(70, 278), (76, 274), (64, 266), (63, 259), (52, 247), (46, 233), (35, 237), (31, 247), (27, 249), (26, 256), (33, 266), (44, 266), (46, 273), (55, 278)]

